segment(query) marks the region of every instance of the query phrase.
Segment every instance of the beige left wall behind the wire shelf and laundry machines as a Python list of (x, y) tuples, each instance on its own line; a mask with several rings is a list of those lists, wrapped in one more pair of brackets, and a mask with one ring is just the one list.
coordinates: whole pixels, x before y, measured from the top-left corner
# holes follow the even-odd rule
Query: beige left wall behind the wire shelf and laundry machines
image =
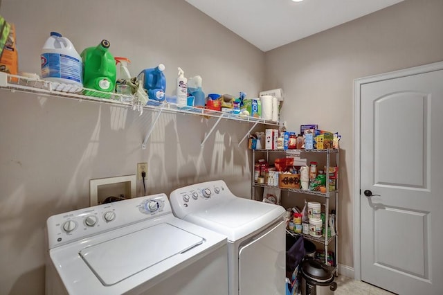
[[(201, 75), (206, 93), (262, 90), (264, 53), (185, 1), (5, 0), (0, 13), (17, 26), (21, 71), (39, 73), (55, 30), (79, 52), (109, 39), (114, 56), (132, 60), (132, 75), (162, 62), (168, 94), (178, 66)], [(215, 119), (164, 114), (142, 150), (150, 111), (0, 92), (0, 294), (44, 293), (46, 219), (89, 206), (89, 179), (134, 174), (147, 161), (147, 194), (224, 179), (250, 195), (247, 145), (237, 146), (247, 123), (221, 121), (201, 148)]]

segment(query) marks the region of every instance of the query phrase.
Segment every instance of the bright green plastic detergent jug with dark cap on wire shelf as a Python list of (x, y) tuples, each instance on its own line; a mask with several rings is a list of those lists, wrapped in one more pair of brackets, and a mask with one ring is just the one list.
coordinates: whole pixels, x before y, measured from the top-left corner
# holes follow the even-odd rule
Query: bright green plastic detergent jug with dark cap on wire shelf
[[(98, 46), (84, 49), (80, 56), (83, 60), (83, 85), (98, 91), (112, 92), (116, 86), (116, 60), (109, 52), (110, 44), (102, 40)], [(86, 95), (111, 98), (109, 94), (85, 91)]]

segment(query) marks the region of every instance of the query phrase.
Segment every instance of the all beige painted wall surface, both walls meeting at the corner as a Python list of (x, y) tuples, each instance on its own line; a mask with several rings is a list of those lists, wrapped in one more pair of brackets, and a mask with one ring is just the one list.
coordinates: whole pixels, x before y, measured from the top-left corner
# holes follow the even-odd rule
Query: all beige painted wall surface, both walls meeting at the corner
[[(133, 75), (163, 62), (168, 94), (177, 66), (201, 75), (206, 93), (282, 87), (289, 127), (318, 123), (343, 135), (339, 262), (350, 267), (353, 80), (443, 60), (442, 11), (440, 0), (407, 0), (265, 54), (185, 1), (4, 0), (0, 8), (17, 26), (21, 71), (39, 72), (42, 44), (56, 30), (78, 51), (109, 39)], [(152, 120), (147, 111), (1, 91), (0, 294), (44, 292), (46, 218), (88, 206), (89, 179), (134, 174), (147, 161), (148, 194), (225, 179), (249, 195), (250, 155), (237, 147), (249, 125), (223, 122), (201, 149), (214, 120), (166, 114), (142, 150)]]

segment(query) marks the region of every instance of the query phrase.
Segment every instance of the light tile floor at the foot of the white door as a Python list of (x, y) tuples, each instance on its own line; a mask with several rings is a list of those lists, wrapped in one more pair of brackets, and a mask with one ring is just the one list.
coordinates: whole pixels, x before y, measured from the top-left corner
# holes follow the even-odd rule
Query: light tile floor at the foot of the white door
[(338, 285), (335, 295), (388, 295), (393, 294), (384, 289), (377, 288), (373, 285), (362, 282), (361, 280), (354, 280), (346, 276), (338, 276), (336, 278)]

